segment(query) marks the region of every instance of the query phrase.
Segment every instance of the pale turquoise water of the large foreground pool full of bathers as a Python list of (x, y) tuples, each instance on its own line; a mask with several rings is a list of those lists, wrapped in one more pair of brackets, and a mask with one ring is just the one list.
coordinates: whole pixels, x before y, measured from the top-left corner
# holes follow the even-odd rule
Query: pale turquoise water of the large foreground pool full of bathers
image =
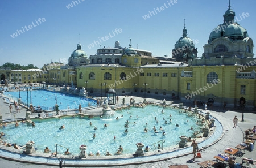
[[(172, 115), (171, 118), (169, 118), (170, 114)], [(123, 115), (123, 118), (121, 115)], [(119, 119), (117, 120), (116, 117), (119, 117)], [(159, 120), (158, 123), (154, 119), (155, 117)], [(167, 124), (165, 124), (163, 118), (168, 121)], [(172, 119), (171, 123), (169, 119)], [(60, 144), (69, 148), (69, 151), (76, 155), (79, 154), (79, 147), (82, 144), (87, 145), (88, 153), (92, 151), (95, 154), (97, 150), (100, 150), (101, 154), (104, 154), (108, 150), (114, 154), (119, 145), (122, 145), (123, 154), (131, 154), (137, 150), (135, 143), (142, 142), (145, 147), (148, 145), (151, 149), (155, 149), (158, 145), (156, 142), (165, 140), (163, 150), (170, 150), (170, 148), (178, 147), (180, 136), (192, 136), (191, 127), (200, 131), (200, 126), (196, 125), (197, 118), (188, 117), (187, 113), (179, 113), (179, 110), (171, 107), (163, 109), (163, 107), (151, 105), (143, 109), (131, 108), (115, 111), (111, 117), (89, 119), (77, 115), (74, 118), (32, 120), (35, 122), (35, 128), (32, 128), (30, 124), (21, 123), (19, 127), (14, 127), (13, 123), (0, 131), (6, 133), (5, 138), (9, 143), (24, 145), (32, 140), (35, 141), (35, 147), (39, 152), (43, 152), (46, 147), (54, 151), (54, 144)], [(129, 120), (128, 133), (124, 133), (126, 120)], [(92, 122), (92, 126), (90, 126), (90, 122)], [(104, 128), (105, 123), (108, 124), (107, 128)], [(59, 130), (63, 124), (65, 129)], [(179, 124), (179, 127), (176, 127), (176, 124)], [(97, 127), (97, 130), (94, 130), (94, 126)], [(159, 133), (154, 133), (153, 126), (156, 127)], [(143, 131), (145, 127), (148, 129), (147, 133)], [(160, 127), (166, 132), (165, 136), (162, 135)], [(95, 139), (93, 139), (93, 133), (96, 134)], [(114, 136), (116, 136), (115, 140), (113, 140)], [(152, 145), (154, 143), (156, 143), (155, 147)], [(159, 144), (162, 146), (162, 142)], [(62, 153), (65, 151), (65, 148), (58, 148), (58, 151)]]

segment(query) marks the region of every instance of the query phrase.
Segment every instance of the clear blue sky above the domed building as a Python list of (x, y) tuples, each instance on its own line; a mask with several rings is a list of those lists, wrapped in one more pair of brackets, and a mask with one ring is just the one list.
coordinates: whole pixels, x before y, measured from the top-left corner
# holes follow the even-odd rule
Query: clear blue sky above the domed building
[[(154, 56), (163, 57), (167, 54), (171, 57), (171, 50), (181, 37), (184, 19), (188, 37), (199, 41), (196, 47), (201, 57), (210, 32), (223, 22), (222, 15), (228, 9), (229, 0), (170, 1), (2, 0), (0, 65), (6, 62), (21, 65), (32, 63), (41, 68), (51, 60), (67, 63), (65, 61), (79, 41), (89, 57), (97, 53), (99, 46), (90, 49), (88, 46), (109, 33), (112, 37), (102, 41), (101, 47), (114, 47), (115, 41), (119, 41), (123, 47), (129, 47), (131, 38), (133, 48), (137, 48), (138, 44), (139, 49), (152, 51)], [(253, 40), (256, 40), (255, 6), (255, 0), (231, 1), (238, 23), (247, 29)], [(155, 15), (143, 19), (154, 9)], [(249, 16), (241, 19), (239, 15), (243, 12), (249, 13)], [(114, 35), (112, 31), (115, 29), (121, 29), (122, 32)], [(17, 35), (14, 38), (11, 37), (13, 33)]]

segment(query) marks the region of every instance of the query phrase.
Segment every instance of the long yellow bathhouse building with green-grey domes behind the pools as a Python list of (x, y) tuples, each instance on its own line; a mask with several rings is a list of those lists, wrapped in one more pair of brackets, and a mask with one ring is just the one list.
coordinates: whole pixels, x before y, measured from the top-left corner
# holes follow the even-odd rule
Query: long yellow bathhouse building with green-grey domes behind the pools
[[(46, 81), (60, 87), (85, 87), (87, 92), (105, 96), (108, 89), (117, 95), (179, 99), (222, 106), (256, 107), (256, 58), (253, 40), (247, 30), (234, 21), (235, 12), (225, 12), (224, 21), (210, 32), (202, 57), (187, 29), (172, 50), (172, 57), (153, 57), (151, 51), (128, 48), (115, 42), (114, 48), (99, 48), (97, 54), (87, 57), (80, 44), (72, 52), (68, 64), (47, 64), (38, 72), (36, 82)], [(18, 70), (0, 70), (2, 79), (13, 79)], [(20, 82), (28, 80), (22, 72)], [(25, 75), (26, 73), (26, 75)], [(40, 74), (42, 73), (42, 74)], [(6, 77), (8, 76), (8, 77)], [(22, 75), (23, 76), (23, 75)], [(20, 79), (20, 78), (19, 78)], [(137, 100), (139, 101), (139, 100)]]

